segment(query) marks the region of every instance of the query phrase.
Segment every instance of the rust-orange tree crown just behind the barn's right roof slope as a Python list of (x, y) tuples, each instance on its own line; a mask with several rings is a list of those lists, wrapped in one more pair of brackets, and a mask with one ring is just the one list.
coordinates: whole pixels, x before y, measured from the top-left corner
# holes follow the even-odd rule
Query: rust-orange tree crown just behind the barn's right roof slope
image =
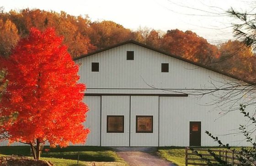
[(161, 40), (161, 49), (188, 60), (209, 64), (213, 62), (217, 47), (192, 31), (170, 30)]

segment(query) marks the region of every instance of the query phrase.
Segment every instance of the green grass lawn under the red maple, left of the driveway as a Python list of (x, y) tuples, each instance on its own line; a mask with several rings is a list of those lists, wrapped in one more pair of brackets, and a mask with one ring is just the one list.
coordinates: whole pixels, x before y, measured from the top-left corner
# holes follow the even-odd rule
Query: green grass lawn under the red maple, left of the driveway
[[(79, 153), (79, 163), (81, 166), (91, 165), (91, 162), (96, 162), (96, 165), (106, 166), (125, 166), (126, 163), (117, 156), (110, 148), (98, 146), (68, 146), (66, 148), (50, 148), (48, 152), (43, 150), (41, 160), (51, 161), (56, 166), (77, 166), (77, 158)], [(0, 155), (22, 155), (31, 156), (29, 146), (1, 146)], [(100, 163), (102, 162), (102, 163)], [(110, 163), (106, 163), (110, 162)]]

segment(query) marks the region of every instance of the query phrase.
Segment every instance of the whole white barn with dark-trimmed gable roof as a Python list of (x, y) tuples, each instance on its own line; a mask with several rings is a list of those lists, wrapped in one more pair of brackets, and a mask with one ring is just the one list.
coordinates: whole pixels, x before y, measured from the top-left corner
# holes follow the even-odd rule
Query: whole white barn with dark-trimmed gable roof
[(239, 110), (222, 116), (213, 102), (216, 95), (193, 95), (214, 90), (216, 84), (243, 83), (226, 73), (131, 40), (75, 62), (90, 108), (86, 145), (216, 146), (205, 130), (224, 143), (246, 145), (242, 135), (232, 134), (245, 123)]

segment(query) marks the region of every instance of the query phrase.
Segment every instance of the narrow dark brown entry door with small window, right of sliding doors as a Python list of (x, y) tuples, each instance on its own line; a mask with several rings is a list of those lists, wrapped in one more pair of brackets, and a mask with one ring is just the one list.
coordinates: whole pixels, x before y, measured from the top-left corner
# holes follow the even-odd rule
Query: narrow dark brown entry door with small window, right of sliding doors
[(201, 146), (201, 122), (190, 122), (189, 126), (189, 146)]

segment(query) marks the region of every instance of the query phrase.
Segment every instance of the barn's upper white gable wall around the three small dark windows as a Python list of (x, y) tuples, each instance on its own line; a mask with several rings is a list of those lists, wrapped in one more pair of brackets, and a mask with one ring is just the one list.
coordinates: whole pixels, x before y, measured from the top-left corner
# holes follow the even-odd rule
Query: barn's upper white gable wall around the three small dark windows
[[(126, 51), (134, 51), (134, 60), (126, 60)], [(151, 88), (149, 85), (155, 88), (204, 89), (214, 88), (210, 81), (219, 84), (218, 81), (223, 82), (224, 79), (234, 80), (132, 43), (75, 62), (81, 64), (80, 82), (87, 85), (90, 93), (106, 92), (106, 88), (116, 88), (115, 92), (119, 88)], [(99, 72), (91, 72), (91, 62), (100, 63)], [(161, 73), (161, 63), (169, 63), (169, 73)], [(148, 92), (155, 93), (155, 90)]]

